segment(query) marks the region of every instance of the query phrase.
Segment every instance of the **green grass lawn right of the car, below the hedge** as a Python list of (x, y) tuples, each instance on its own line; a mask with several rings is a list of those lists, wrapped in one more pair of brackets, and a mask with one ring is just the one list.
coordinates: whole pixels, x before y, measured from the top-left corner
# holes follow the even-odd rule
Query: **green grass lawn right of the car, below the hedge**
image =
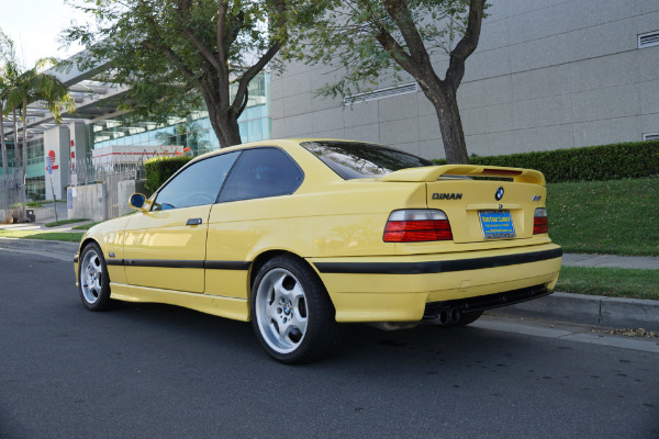
[(659, 178), (547, 184), (549, 236), (566, 252), (659, 256)]

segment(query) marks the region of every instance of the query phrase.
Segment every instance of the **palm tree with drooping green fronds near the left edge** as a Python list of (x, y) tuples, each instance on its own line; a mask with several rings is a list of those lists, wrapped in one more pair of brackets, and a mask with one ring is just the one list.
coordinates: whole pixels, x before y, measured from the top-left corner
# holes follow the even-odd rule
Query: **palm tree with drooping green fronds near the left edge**
[[(40, 59), (36, 66), (20, 72), (11, 78), (11, 83), (7, 93), (7, 112), (12, 109), (20, 111), (21, 123), (23, 126), (23, 216), (25, 216), (25, 175), (27, 172), (27, 104), (41, 101), (44, 106), (53, 114), (55, 123), (62, 122), (62, 113), (75, 111), (74, 98), (69, 94), (68, 88), (53, 75), (41, 71), (47, 64), (55, 63), (53, 58)], [(18, 131), (14, 128), (15, 150), (18, 154)], [(18, 160), (16, 160), (18, 161)]]

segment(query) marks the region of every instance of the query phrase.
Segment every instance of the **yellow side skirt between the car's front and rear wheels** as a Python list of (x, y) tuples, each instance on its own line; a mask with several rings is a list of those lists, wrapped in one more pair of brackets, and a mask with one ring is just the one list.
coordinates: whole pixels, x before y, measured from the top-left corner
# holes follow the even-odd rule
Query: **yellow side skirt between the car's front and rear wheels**
[(110, 282), (110, 297), (125, 302), (166, 303), (234, 320), (249, 322), (249, 304), (245, 299), (196, 294)]

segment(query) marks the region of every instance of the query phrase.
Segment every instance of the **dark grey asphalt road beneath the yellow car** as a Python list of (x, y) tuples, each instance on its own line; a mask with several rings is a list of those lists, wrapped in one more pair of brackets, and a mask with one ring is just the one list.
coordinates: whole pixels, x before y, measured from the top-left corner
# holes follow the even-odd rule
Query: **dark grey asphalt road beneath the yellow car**
[(38, 255), (0, 250), (0, 438), (659, 438), (657, 339), (353, 325), (287, 367), (249, 324), (88, 312), (71, 263)]

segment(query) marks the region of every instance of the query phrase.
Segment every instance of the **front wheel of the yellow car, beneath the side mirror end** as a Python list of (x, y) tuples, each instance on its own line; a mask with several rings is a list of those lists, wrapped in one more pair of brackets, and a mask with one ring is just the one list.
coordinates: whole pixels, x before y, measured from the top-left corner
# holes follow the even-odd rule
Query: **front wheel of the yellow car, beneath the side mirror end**
[(80, 254), (78, 291), (82, 304), (90, 311), (111, 309), (116, 301), (110, 299), (110, 277), (101, 248), (90, 243)]

